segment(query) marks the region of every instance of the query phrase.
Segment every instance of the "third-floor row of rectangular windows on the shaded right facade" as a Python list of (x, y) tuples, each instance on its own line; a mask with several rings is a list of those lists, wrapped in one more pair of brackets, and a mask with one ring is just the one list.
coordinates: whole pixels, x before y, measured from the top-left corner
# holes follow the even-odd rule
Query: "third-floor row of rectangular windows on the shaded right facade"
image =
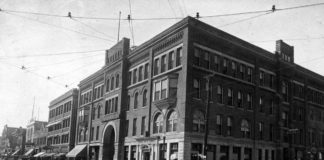
[[(206, 83), (206, 82), (205, 82)], [(202, 92), (206, 92), (207, 84), (203, 85), (203, 81), (198, 78), (193, 79), (192, 96), (194, 99), (206, 99), (202, 97)], [(219, 104), (226, 104), (228, 106), (237, 106), (238, 108), (246, 108), (253, 110), (253, 94), (243, 89), (235, 89), (233, 87), (223, 87), (222, 85), (210, 85), (210, 100)], [(269, 96), (260, 95), (258, 97), (258, 108), (256, 111), (268, 112), (274, 114), (275, 103), (274, 98), (266, 98)]]

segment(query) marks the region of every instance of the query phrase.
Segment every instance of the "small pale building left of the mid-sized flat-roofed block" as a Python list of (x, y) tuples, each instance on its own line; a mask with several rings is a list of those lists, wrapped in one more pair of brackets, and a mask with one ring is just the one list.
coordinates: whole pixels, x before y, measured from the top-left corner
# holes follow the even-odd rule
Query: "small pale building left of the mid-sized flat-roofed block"
[(47, 122), (31, 119), (26, 127), (26, 155), (37, 153), (46, 146)]

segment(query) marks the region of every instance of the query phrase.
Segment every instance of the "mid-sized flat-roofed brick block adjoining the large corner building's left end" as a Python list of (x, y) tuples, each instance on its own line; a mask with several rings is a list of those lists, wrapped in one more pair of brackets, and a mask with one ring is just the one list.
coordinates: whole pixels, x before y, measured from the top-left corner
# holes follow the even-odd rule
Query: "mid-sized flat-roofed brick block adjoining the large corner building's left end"
[(54, 153), (67, 153), (75, 144), (78, 90), (71, 89), (50, 102), (47, 146)]

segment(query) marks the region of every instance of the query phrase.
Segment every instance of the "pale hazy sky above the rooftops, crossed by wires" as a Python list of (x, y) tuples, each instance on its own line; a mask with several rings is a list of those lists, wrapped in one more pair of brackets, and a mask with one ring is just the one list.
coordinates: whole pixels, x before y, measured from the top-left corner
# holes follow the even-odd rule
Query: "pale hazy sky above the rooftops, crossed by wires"
[[(117, 42), (118, 21), (73, 16), (118, 19), (119, 12), (122, 19), (130, 12), (134, 19), (195, 16), (196, 12), (209, 16), (315, 3), (323, 1), (0, 0), (0, 133), (5, 124), (26, 127), (33, 108), (34, 118), (47, 121), (50, 101), (104, 65), (104, 50)], [(72, 19), (4, 11), (62, 16), (71, 12)], [(270, 52), (275, 41), (283, 39), (294, 46), (295, 63), (324, 74), (324, 5), (259, 15), (200, 20)], [(138, 46), (179, 20), (134, 20), (132, 27), (122, 20), (120, 37)]]

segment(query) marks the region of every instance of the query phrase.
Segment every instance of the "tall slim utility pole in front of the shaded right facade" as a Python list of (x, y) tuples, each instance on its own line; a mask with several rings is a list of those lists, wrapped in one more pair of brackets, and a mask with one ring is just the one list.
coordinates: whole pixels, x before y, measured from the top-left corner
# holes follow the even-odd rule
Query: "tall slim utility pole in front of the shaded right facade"
[(207, 75), (205, 78), (207, 80), (206, 85), (206, 92), (207, 92), (207, 103), (205, 108), (205, 135), (204, 135), (204, 149), (203, 149), (203, 155), (204, 159), (207, 159), (207, 139), (208, 139), (208, 122), (209, 122), (209, 105), (210, 105), (210, 78), (213, 77), (214, 74)]

